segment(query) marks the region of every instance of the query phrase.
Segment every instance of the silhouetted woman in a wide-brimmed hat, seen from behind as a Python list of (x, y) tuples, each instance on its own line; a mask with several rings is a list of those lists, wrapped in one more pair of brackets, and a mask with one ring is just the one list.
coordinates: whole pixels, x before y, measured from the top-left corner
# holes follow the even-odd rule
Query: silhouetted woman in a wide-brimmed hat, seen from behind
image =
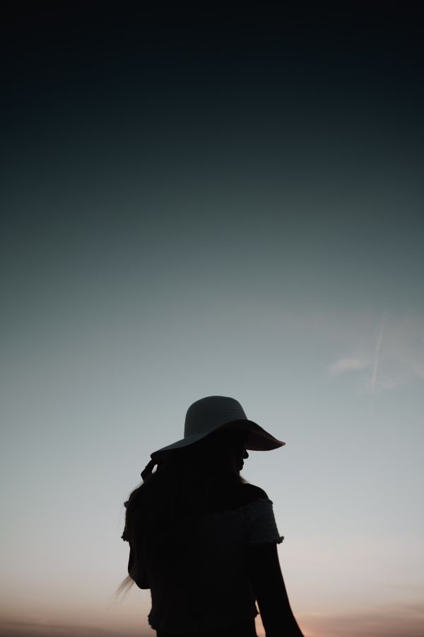
[(151, 590), (148, 622), (157, 637), (255, 637), (255, 600), (266, 637), (302, 637), (272, 502), (240, 476), (247, 449), (283, 444), (234, 398), (208, 396), (189, 407), (184, 438), (151, 454), (125, 503), (122, 587)]

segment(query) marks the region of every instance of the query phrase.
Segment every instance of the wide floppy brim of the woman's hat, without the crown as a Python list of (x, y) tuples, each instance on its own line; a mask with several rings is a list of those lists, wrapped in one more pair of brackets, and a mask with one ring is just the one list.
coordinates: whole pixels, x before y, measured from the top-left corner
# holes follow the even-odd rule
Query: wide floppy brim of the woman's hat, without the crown
[(162, 449), (158, 449), (153, 452), (151, 454), (151, 459), (161, 461), (165, 459), (167, 454), (170, 452), (176, 451), (177, 449), (183, 449), (184, 447), (189, 447), (191, 444), (199, 442), (199, 440), (207, 438), (208, 436), (211, 436), (217, 431), (221, 431), (223, 429), (239, 429), (247, 431), (249, 435), (247, 437), (245, 447), (252, 451), (271, 451), (271, 449), (278, 449), (278, 447), (283, 447), (283, 444), (285, 444), (285, 442), (277, 440), (257, 423), (254, 423), (253, 420), (230, 420), (230, 422), (223, 423), (223, 425), (219, 425), (210, 432), (187, 436), (186, 438), (177, 440), (177, 442), (168, 444), (167, 447), (162, 447)]

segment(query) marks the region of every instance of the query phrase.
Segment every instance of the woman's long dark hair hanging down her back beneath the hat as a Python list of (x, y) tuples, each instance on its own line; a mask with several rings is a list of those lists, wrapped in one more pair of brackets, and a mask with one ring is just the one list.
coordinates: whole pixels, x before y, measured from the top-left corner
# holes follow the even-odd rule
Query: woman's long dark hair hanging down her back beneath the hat
[[(175, 450), (158, 469), (135, 488), (126, 504), (123, 539), (131, 546), (129, 576), (119, 586), (118, 593), (134, 581), (148, 588), (146, 574), (160, 569), (163, 560), (176, 558), (167, 544), (179, 538), (179, 547), (189, 550), (196, 536), (201, 516), (208, 512), (212, 493), (247, 481), (240, 476), (240, 457), (247, 432), (220, 430), (203, 440)], [(184, 527), (183, 522), (186, 522)]]

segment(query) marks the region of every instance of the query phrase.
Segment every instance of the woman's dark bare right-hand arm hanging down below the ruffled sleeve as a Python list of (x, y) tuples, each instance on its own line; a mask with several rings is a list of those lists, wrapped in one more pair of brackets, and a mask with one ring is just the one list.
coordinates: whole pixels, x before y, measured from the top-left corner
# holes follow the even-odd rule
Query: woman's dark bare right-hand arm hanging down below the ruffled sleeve
[(249, 546), (248, 551), (250, 581), (266, 637), (303, 637), (288, 601), (277, 545), (264, 542)]

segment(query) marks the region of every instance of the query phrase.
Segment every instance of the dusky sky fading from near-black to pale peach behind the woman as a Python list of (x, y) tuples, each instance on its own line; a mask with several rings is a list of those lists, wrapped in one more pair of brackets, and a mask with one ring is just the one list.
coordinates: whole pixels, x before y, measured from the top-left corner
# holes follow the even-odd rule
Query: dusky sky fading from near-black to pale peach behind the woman
[(423, 637), (417, 10), (99, 7), (2, 27), (0, 636), (154, 634), (123, 503), (223, 395), (305, 637)]

